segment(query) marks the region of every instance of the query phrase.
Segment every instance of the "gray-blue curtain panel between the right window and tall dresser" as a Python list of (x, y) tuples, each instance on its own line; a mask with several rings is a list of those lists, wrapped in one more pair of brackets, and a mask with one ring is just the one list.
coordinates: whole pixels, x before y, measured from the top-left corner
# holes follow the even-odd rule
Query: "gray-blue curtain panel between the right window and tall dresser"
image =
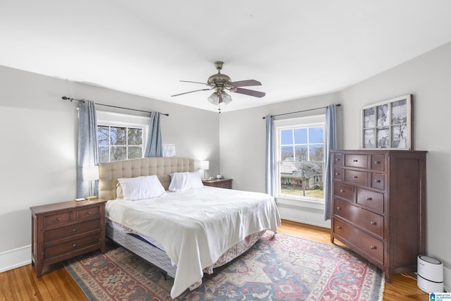
[(324, 220), (330, 219), (330, 202), (332, 197), (333, 162), (331, 150), (337, 149), (337, 116), (336, 105), (331, 104), (326, 108), (326, 171), (324, 177)]

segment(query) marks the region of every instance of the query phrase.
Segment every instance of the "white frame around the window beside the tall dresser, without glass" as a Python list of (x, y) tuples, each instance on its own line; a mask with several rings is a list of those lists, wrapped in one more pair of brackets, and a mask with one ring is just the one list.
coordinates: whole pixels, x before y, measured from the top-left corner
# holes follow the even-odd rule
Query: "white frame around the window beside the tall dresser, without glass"
[[(293, 128), (313, 128), (321, 126), (323, 128), (323, 148), (325, 147), (326, 141), (326, 114), (319, 114), (314, 116), (304, 116), (297, 118), (288, 118), (283, 120), (274, 121), (274, 135), (275, 135), (275, 147), (274, 154), (276, 158), (275, 162), (275, 174), (276, 174), (276, 200), (277, 202), (282, 202), (290, 205), (300, 206), (302, 204), (310, 204), (312, 207), (323, 208), (324, 198), (319, 199), (317, 197), (304, 197), (304, 196), (293, 196), (281, 193), (281, 130), (293, 129)], [(324, 154), (326, 154), (324, 150)], [(323, 157), (323, 179), (324, 172), (326, 169), (326, 158)], [(318, 206), (319, 205), (319, 206)]]

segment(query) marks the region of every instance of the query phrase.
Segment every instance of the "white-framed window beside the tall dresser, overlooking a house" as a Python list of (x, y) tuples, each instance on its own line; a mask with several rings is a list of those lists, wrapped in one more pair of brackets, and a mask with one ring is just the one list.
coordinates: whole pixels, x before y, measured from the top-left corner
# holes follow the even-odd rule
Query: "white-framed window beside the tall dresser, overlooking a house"
[(275, 121), (278, 197), (324, 201), (326, 116)]

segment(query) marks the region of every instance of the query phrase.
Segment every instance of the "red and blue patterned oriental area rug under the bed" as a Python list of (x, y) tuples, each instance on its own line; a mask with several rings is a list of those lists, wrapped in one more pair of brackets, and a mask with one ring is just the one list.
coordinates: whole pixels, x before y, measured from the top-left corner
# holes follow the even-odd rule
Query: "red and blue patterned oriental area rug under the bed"
[[(65, 262), (89, 300), (171, 300), (173, 280), (123, 247)], [(359, 255), (266, 233), (245, 254), (175, 300), (382, 300), (383, 272)]]

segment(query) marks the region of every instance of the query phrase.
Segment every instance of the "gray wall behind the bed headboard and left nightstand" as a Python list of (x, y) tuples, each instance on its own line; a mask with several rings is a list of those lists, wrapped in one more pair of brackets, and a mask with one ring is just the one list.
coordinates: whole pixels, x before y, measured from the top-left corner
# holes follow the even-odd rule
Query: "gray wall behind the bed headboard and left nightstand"
[(0, 271), (1, 255), (30, 246), (30, 207), (76, 197), (78, 102), (62, 96), (169, 113), (163, 143), (179, 157), (209, 159), (207, 176), (219, 173), (218, 113), (0, 66)]

